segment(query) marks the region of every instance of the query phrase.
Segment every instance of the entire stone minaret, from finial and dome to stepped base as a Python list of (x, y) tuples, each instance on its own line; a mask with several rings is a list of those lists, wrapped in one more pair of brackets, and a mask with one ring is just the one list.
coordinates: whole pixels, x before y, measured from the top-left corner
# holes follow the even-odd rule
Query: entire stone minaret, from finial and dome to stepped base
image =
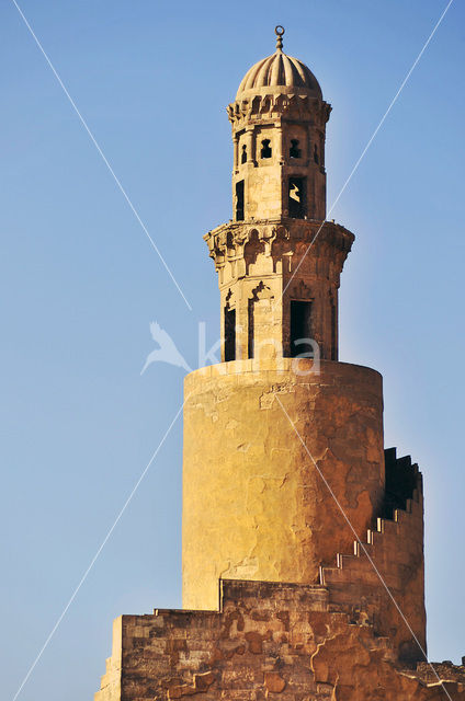
[(115, 620), (95, 701), (465, 701), (464, 667), (424, 662), (421, 473), (384, 450), (381, 375), (338, 359), (330, 108), (276, 34), (228, 107), (234, 218), (205, 237), (223, 361), (184, 384), (183, 609)]

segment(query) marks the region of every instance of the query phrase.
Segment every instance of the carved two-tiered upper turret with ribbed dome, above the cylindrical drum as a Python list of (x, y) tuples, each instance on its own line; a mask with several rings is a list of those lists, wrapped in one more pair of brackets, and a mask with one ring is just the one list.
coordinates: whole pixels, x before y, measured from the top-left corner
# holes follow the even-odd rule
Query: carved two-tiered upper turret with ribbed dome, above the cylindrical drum
[(353, 235), (325, 221), (331, 108), (310, 70), (283, 53), (284, 30), (276, 34), (275, 53), (228, 106), (234, 220), (205, 237), (219, 277), (222, 358), (337, 360), (339, 276)]

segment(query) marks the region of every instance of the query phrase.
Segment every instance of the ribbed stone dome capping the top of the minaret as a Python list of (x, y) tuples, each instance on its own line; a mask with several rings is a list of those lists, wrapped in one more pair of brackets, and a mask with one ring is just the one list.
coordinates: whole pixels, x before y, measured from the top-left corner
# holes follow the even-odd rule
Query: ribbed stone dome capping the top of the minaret
[(262, 88), (281, 87), (297, 91), (304, 89), (311, 92), (314, 97), (322, 100), (321, 88), (309, 68), (297, 58), (284, 54), (281, 48), (247, 71), (237, 91), (236, 100), (239, 100), (246, 91), (257, 90), (262, 93)]

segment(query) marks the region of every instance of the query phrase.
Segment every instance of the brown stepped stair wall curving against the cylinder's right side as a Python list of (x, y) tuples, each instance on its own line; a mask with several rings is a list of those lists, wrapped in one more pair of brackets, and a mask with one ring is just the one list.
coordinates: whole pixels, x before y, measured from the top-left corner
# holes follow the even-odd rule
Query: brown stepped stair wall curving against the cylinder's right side
[(332, 608), (366, 620), (388, 636), (396, 655), (421, 660), (427, 652), (424, 610), (423, 491), (416, 474), (412, 498), (393, 518), (377, 518), (352, 553), (338, 553), (320, 570)]

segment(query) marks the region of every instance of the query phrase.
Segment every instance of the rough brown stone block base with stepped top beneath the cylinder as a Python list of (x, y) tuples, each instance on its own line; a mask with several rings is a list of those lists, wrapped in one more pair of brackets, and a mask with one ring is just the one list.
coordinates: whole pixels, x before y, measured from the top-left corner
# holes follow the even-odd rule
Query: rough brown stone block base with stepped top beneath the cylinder
[[(319, 586), (223, 582), (220, 611), (158, 610), (118, 619), (95, 701), (439, 701), (421, 666), (402, 668), (366, 621), (331, 611)], [(440, 669), (454, 701), (463, 668)]]

